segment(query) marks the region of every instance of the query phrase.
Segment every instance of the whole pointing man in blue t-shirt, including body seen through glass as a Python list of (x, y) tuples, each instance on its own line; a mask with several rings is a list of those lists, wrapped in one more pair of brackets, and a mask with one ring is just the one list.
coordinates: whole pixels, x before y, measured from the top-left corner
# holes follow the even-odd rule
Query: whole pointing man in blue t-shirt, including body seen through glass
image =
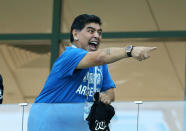
[[(82, 118), (81, 104), (86, 103), (84, 119), (88, 116), (93, 95), (100, 93), (100, 101), (114, 101), (115, 84), (107, 64), (123, 58), (145, 60), (155, 47), (99, 49), (102, 29), (101, 20), (95, 15), (83, 14), (75, 18), (71, 26), (71, 46), (54, 63), (48, 79), (29, 115), (28, 131), (77, 131), (88, 130)], [(78, 107), (79, 106), (79, 107)], [(41, 117), (38, 117), (41, 116)]]

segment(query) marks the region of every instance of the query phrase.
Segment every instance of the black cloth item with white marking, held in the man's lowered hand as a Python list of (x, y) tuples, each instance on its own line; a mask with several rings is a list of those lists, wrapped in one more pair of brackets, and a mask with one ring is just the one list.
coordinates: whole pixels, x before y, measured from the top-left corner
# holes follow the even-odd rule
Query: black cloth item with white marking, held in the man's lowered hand
[(115, 114), (114, 107), (99, 101), (99, 93), (94, 95), (94, 103), (87, 117), (90, 131), (110, 131), (109, 123)]

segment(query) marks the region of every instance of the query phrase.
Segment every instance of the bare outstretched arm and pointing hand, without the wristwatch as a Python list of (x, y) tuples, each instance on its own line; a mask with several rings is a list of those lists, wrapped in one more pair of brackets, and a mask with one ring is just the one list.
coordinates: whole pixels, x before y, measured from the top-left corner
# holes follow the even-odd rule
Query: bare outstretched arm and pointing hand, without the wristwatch
[[(149, 53), (155, 49), (156, 47), (134, 47), (132, 51), (132, 57), (140, 61), (147, 59), (149, 58)], [(87, 53), (76, 68), (83, 69), (92, 66), (110, 64), (127, 57), (128, 56), (125, 52), (125, 47), (100, 49)]]

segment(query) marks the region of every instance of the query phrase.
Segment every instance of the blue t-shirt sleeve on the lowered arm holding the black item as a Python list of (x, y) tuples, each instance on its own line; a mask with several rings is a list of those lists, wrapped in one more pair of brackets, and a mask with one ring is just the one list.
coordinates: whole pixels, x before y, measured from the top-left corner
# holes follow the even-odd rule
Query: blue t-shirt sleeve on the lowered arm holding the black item
[(108, 65), (103, 65), (103, 86), (102, 86), (101, 91), (106, 91), (110, 88), (116, 88), (116, 86), (108, 71)]

